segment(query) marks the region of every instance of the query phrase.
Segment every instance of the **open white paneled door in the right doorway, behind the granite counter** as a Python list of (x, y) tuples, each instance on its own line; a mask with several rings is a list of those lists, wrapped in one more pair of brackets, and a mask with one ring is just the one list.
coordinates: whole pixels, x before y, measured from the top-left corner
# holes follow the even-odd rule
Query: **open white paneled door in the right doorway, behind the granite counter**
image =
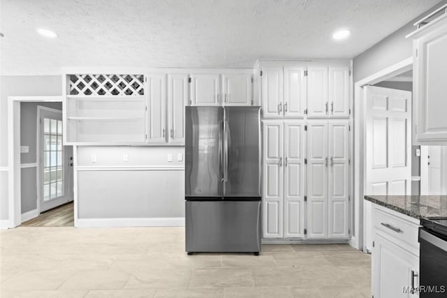
[[(365, 195), (411, 194), (411, 92), (364, 87)], [(371, 206), (365, 204), (365, 243), (372, 248)]]

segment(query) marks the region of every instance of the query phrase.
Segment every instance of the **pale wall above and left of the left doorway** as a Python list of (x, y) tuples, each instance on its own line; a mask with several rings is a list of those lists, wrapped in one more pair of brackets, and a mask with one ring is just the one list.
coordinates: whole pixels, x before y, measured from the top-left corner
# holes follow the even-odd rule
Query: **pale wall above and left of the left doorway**
[(8, 219), (8, 96), (62, 94), (60, 75), (0, 76), (0, 220)]

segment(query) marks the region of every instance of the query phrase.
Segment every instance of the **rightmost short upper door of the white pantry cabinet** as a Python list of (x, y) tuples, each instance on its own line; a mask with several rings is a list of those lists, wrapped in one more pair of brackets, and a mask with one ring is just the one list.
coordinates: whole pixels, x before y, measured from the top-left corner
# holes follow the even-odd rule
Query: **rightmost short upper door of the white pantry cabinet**
[(330, 117), (349, 117), (349, 69), (329, 68)]

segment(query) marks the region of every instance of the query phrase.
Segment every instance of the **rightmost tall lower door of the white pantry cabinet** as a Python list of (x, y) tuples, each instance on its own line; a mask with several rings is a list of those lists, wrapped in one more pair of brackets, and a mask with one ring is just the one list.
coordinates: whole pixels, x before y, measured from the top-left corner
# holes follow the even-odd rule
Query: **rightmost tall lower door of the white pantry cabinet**
[(349, 121), (329, 123), (329, 237), (349, 237)]

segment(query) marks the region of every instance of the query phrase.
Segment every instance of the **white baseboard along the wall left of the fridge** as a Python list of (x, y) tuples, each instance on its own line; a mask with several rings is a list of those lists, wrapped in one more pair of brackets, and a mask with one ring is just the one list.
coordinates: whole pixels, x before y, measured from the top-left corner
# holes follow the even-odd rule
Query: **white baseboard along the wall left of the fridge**
[(184, 227), (184, 217), (78, 218), (76, 228)]

